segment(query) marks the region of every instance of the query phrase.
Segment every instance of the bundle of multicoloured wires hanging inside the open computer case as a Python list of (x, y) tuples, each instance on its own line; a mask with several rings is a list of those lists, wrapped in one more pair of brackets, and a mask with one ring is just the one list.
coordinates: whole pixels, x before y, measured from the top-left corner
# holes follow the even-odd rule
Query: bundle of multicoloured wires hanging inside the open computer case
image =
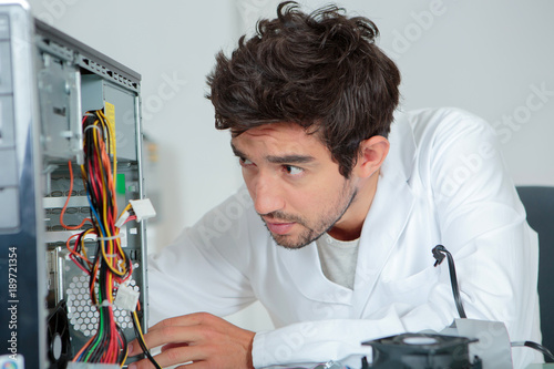
[[(114, 181), (115, 134), (102, 111), (88, 112), (82, 125), (84, 163), (81, 165), (81, 175), (86, 188), (91, 217), (83, 219), (76, 226), (63, 223), (63, 215), (73, 189), (73, 170), (69, 162), (71, 187), (60, 214), (60, 224), (66, 229), (84, 228), (83, 232), (70, 237), (66, 246), (70, 258), (90, 276), (89, 291), (92, 305), (99, 311), (99, 326), (96, 334), (75, 355), (73, 361), (117, 363), (123, 367), (127, 356), (127, 342), (115, 321), (113, 301), (119, 286), (131, 277), (133, 270), (131, 259), (121, 246), (120, 229), (115, 225), (117, 222)], [(122, 213), (126, 214), (129, 209), (130, 205)], [(134, 218), (131, 216), (125, 223)], [(92, 260), (86, 255), (84, 246), (84, 239), (90, 234), (96, 235), (96, 250)], [(136, 317), (136, 312), (133, 314)], [(136, 325), (138, 321), (136, 319), (133, 322)], [(144, 349), (147, 350), (145, 345)], [(151, 358), (150, 353), (147, 356)]]

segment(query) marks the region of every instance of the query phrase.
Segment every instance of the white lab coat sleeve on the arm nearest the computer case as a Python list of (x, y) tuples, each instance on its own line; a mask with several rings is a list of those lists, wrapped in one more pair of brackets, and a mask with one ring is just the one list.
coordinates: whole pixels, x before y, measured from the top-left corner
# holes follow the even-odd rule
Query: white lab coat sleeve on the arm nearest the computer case
[(246, 276), (248, 247), (242, 188), (148, 257), (150, 325), (196, 311), (227, 316), (256, 300)]

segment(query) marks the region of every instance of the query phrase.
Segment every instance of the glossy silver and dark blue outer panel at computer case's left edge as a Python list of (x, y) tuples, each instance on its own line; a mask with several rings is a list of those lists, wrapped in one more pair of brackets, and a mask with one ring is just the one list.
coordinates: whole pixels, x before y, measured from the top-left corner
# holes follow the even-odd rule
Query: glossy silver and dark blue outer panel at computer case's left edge
[(45, 250), (33, 68), (24, 2), (0, 3), (0, 356), (45, 361)]

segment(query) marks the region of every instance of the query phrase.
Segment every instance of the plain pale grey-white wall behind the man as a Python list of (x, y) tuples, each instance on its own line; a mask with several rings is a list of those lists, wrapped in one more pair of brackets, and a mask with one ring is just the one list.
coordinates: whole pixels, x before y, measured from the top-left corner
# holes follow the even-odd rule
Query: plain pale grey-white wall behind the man
[[(39, 18), (143, 76), (144, 130), (160, 144), (164, 195), (152, 246), (170, 243), (239, 185), (228, 133), (214, 129), (203, 98), (205, 75), (214, 54), (233, 48), (259, 14), (273, 17), (276, 3), (31, 0)], [(328, 1), (301, 3), (315, 9)], [(483, 116), (496, 126), (517, 184), (554, 185), (553, 1), (339, 4), (380, 28), (380, 45), (403, 75), (402, 109), (452, 105)], [(257, 308), (234, 319), (254, 329), (269, 326)]]

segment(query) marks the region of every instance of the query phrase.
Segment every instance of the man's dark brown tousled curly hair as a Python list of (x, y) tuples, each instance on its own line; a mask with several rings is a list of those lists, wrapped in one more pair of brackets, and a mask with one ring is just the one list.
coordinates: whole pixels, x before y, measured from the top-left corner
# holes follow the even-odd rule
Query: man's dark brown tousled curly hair
[(294, 122), (317, 132), (348, 178), (361, 141), (387, 136), (399, 102), (400, 72), (376, 44), (376, 24), (328, 6), (306, 14), (281, 2), (230, 58), (219, 52), (207, 76), (215, 126), (238, 135)]

